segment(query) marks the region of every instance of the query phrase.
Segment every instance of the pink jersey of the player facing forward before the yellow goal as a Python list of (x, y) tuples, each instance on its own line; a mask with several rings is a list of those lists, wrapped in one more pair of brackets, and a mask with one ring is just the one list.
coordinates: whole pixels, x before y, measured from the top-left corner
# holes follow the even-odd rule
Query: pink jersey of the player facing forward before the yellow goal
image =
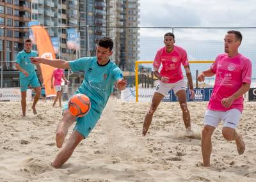
[(166, 52), (166, 47), (162, 47), (156, 53), (153, 66), (159, 69), (162, 63), (162, 69), (160, 71), (161, 77), (168, 77), (169, 83), (175, 83), (183, 79), (181, 70), (181, 64), (188, 66), (188, 57), (186, 50), (181, 47), (174, 46), (172, 52)]

